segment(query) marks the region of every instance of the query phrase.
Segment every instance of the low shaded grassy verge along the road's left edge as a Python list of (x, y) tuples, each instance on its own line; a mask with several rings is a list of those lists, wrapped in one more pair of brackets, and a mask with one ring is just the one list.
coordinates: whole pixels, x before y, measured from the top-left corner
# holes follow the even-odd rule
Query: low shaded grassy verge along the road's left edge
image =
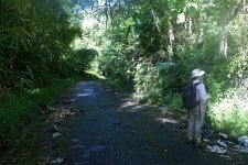
[[(85, 78), (93, 77), (87, 75)], [(10, 100), (0, 105), (0, 148), (8, 146), (28, 123), (37, 119), (43, 106), (58, 98), (68, 86), (80, 79), (79, 76), (67, 78), (54, 76), (46, 87), (28, 90), (19, 96), (11, 95)]]

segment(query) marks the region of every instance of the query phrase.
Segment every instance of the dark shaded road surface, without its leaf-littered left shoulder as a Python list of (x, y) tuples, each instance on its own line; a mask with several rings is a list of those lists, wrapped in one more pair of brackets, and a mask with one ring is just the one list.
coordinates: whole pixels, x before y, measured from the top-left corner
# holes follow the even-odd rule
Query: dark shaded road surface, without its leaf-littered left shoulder
[(73, 108), (85, 112), (68, 129), (67, 145), (60, 155), (67, 164), (233, 164), (186, 144), (185, 129), (161, 122), (172, 119), (169, 112), (139, 106), (99, 81), (80, 82), (72, 94), (77, 99)]

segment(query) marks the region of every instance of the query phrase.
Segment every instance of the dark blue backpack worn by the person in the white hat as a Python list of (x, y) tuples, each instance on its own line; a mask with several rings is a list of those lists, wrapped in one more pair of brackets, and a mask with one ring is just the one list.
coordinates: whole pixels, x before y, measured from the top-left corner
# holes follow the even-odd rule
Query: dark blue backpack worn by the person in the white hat
[(196, 100), (196, 86), (201, 82), (191, 84), (183, 91), (183, 107), (187, 110), (192, 110), (200, 106), (200, 101)]

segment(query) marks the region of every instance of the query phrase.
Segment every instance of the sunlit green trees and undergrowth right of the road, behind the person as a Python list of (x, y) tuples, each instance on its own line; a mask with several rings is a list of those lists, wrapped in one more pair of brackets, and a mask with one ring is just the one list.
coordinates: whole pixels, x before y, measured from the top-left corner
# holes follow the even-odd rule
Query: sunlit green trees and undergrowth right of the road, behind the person
[(248, 95), (244, 86), (248, 78), (245, 1), (109, 1), (104, 13), (110, 21), (99, 73), (118, 85), (132, 85), (140, 101), (182, 110), (181, 94), (191, 70), (201, 68), (212, 96), (212, 122), (236, 130), (233, 134), (247, 133), (241, 103), (246, 99), (230, 97), (240, 86)]

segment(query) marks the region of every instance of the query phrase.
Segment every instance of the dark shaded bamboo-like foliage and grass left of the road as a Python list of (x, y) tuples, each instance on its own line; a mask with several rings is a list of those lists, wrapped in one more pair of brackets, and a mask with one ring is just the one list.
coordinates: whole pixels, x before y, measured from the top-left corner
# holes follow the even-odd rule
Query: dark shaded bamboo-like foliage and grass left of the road
[[(97, 55), (72, 46), (82, 36), (80, 9), (69, 0), (1, 0), (0, 147), (32, 121)], [(7, 142), (6, 142), (7, 141)]]

